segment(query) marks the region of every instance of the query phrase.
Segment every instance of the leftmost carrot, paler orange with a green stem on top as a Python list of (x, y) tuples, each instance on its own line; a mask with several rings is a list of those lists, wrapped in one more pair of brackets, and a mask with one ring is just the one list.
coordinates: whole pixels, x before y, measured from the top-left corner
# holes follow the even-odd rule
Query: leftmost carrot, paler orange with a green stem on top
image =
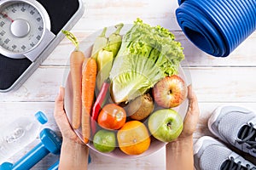
[(72, 110), (72, 126), (74, 129), (80, 127), (81, 123), (81, 106), (82, 106), (82, 66), (84, 63), (84, 53), (79, 51), (79, 42), (76, 37), (69, 31), (62, 31), (66, 37), (73, 42), (75, 50), (70, 55), (70, 74), (73, 86), (73, 110)]

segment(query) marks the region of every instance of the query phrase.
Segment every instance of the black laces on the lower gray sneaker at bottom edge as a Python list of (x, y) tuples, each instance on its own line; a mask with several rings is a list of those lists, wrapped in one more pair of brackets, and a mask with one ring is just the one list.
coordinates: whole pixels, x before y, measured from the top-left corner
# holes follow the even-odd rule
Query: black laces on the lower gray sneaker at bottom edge
[(241, 161), (235, 162), (234, 157), (230, 157), (230, 160), (224, 161), (222, 166), (220, 167), (221, 170), (256, 170), (256, 167), (251, 167), (249, 164), (246, 165), (247, 167), (243, 167), (241, 165)]

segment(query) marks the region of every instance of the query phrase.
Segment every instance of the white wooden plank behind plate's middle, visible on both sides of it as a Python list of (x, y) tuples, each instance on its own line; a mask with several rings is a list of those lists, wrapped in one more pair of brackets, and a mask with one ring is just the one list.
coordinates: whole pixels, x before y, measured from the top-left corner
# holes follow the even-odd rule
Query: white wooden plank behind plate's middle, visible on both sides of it
[[(54, 101), (68, 67), (42, 66), (18, 90), (0, 101)], [(255, 67), (186, 67), (201, 102), (256, 102)], [(190, 76), (189, 76), (190, 74)]]

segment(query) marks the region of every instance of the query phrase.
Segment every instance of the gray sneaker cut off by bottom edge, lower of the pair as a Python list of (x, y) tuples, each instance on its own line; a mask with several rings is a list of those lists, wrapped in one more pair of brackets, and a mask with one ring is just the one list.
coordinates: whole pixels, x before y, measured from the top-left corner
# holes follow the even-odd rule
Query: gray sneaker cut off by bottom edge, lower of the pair
[(196, 170), (256, 170), (253, 163), (209, 136), (195, 142), (194, 162)]

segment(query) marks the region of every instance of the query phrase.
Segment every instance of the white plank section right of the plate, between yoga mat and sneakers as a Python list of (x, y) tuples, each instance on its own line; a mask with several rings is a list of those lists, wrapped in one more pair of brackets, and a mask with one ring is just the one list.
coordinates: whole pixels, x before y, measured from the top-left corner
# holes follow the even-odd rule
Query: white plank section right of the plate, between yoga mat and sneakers
[(190, 73), (200, 102), (256, 102), (255, 67), (188, 67), (184, 70)]

